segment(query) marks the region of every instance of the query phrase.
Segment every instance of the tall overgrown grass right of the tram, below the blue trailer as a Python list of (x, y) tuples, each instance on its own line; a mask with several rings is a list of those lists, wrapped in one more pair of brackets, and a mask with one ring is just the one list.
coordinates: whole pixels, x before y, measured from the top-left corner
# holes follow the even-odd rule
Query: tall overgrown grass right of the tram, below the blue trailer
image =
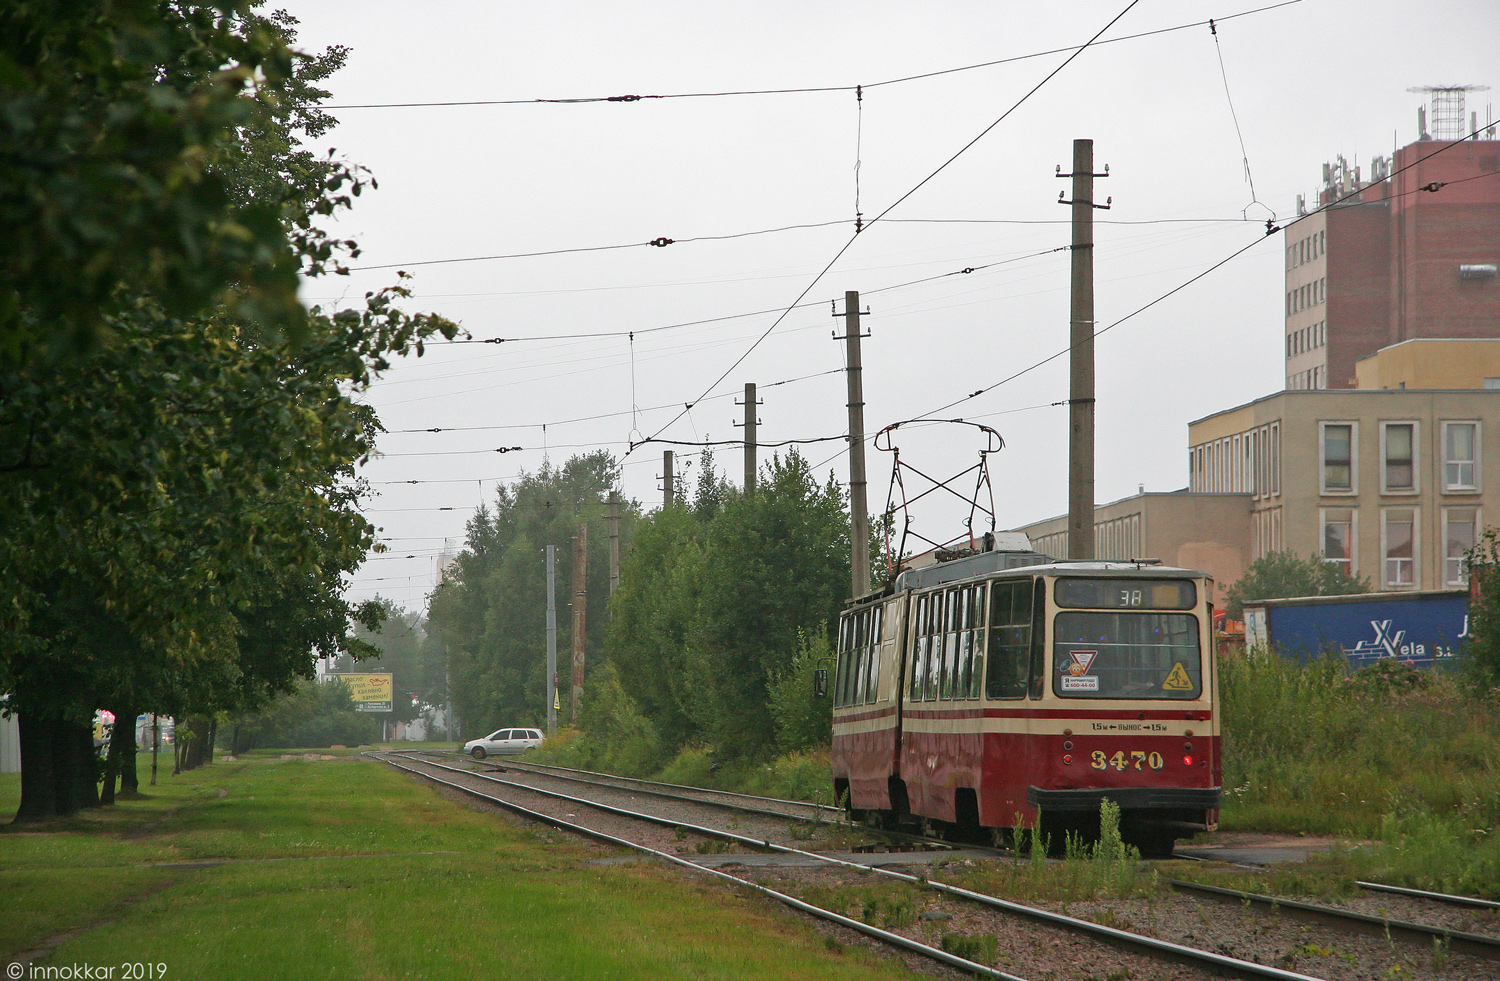
[(1500, 894), (1500, 704), (1449, 676), (1388, 674), (1226, 660), (1222, 826), (1371, 838), (1334, 867)]

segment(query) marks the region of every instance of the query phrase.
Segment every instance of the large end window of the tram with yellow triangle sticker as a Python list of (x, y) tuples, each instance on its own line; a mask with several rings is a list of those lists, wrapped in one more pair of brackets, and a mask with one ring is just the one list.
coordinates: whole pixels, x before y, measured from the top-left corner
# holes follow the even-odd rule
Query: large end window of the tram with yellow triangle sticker
[(1052, 690), (1078, 699), (1188, 700), (1203, 693), (1192, 614), (1060, 612)]

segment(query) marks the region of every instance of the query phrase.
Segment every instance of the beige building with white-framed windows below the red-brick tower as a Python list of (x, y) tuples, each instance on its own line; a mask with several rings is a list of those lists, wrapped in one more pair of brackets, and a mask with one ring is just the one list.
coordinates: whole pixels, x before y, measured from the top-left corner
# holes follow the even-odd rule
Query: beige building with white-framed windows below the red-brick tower
[(1280, 392), (1188, 442), (1190, 495), (1250, 495), (1251, 560), (1322, 555), (1376, 590), (1464, 585), (1500, 514), (1500, 390)]

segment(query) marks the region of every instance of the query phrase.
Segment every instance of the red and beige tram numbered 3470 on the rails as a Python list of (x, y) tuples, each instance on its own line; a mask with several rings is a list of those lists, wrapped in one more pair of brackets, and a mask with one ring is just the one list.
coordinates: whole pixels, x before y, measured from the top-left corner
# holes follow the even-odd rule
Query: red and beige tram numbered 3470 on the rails
[(1053, 842), (1096, 834), (1108, 798), (1125, 840), (1156, 855), (1212, 830), (1212, 580), (1148, 562), (1017, 561), (992, 550), (909, 568), (849, 603), (836, 795), (878, 824), (996, 838), (1040, 826)]

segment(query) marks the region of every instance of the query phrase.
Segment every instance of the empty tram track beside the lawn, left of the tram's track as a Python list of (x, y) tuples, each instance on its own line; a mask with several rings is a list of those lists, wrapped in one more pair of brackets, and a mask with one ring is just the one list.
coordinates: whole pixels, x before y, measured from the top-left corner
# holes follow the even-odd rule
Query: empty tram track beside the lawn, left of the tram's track
[[(740, 882), (740, 884), (748, 884), (756, 891), (765, 892), (768, 896), (772, 896), (774, 898), (778, 898), (778, 902), (786, 902), (788, 898), (795, 898), (795, 897), (788, 897), (786, 892), (783, 892), (780, 890), (772, 890), (772, 888), (770, 888), (770, 886), (766, 886), (766, 885), (764, 885), (760, 882), (756, 882), (753, 878), (732, 876), (732, 874), (724, 873), (722, 868), (712, 867), (714, 864), (722, 864), (722, 862), (711, 862), (711, 861), (705, 861), (705, 860), (694, 860), (693, 856), (684, 856), (681, 854), (672, 855), (672, 854), (669, 854), (666, 850), (654, 849), (651, 846), (640, 844), (639, 842), (628, 840), (628, 838), (626, 838), (626, 837), (622, 837), (620, 834), (603, 832), (603, 831), (598, 831), (598, 830), (594, 830), (594, 828), (588, 828), (588, 826), (585, 826), (584, 824), (580, 824), (578, 820), (566, 820), (566, 819), (556, 818), (555, 814), (546, 814), (546, 813), (543, 813), (543, 812), (540, 812), (537, 808), (516, 804), (516, 802), (513, 802), (510, 800), (506, 800), (504, 796), (501, 796), (498, 794), (486, 794), (483, 790), (477, 790), (472, 786), (466, 786), (465, 783), (460, 783), (459, 780), (450, 778), (450, 776), (454, 776), (454, 777), (456, 776), (462, 776), (462, 777), (470, 778), (470, 780), (482, 780), (482, 782), (486, 782), (486, 783), (501, 784), (501, 786), (508, 788), (512, 794), (514, 794), (514, 792), (537, 794), (537, 795), (542, 795), (542, 796), (546, 796), (546, 798), (552, 798), (555, 801), (562, 801), (567, 806), (592, 807), (592, 808), (598, 808), (602, 812), (608, 812), (608, 813), (612, 813), (612, 814), (616, 814), (616, 816), (628, 816), (630, 819), (634, 819), (634, 820), (651, 822), (651, 824), (656, 824), (656, 825), (669, 825), (669, 826), (674, 826), (674, 828), (678, 828), (678, 830), (690, 831), (692, 834), (702, 836), (705, 838), (718, 838), (718, 840), (723, 840), (723, 842), (730, 842), (730, 843), (738, 844), (740, 848), (746, 848), (746, 849), (770, 850), (770, 852), (778, 852), (782, 855), (798, 856), (798, 858), (801, 858), (804, 861), (810, 861), (810, 862), (813, 862), (813, 864), (816, 864), (819, 867), (825, 867), (825, 868), (830, 868), (830, 870), (837, 870), (837, 872), (842, 872), (842, 873), (854, 873), (854, 874), (861, 876), (861, 878), (867, 878), (867, 876), (873, 874), (873, 876), (880, 876), (880, 878), (891, 879), (891, 880), (896, 880), (896, 882), (904, 882), (904, 884), (914, 885), (914, 886), (916, 886), (916, 888), (920, 888), (920, 890), (922, 890), (926, 892), (938, 894), (938, 896), (940, 896), (945, 900), (957, 900), (960, 903), (976, 904), (976, 906), (986, 908), (987, 910), (999, 912), (999, 914), (1004, 914), (1004, 915), (1012, 916), (1012, 918), (1020, 918), (1020, 920), (1023, 920), (1023, 921), (1026, 921), (1028, 924), (1032, 924), (1032, 926), (1041, 926), (1041, 927), (1046, 927), (1046, 928), (1053, 930), (1053, 932), (1062, 930), (1062, 932), (1071, 934), (1071, 938), (1074, 938), (1074, 939), (1084, 938), (1089, 942), (1106, 945), (1108, 948), (1113, 948), (1114, 951), (1125, 951), (1126, 954), (1134, 954), (1137, 957), (1148, 958), (1148, 968), (1144, 968), (1146, 974), (1142, 974), (1140, 972), (1142, 969), (1137, 964), (1137, 972), (1134, 975), (1131, 975), (1131, 976), (1152, 976), (1152, 978), (1164, 976), (1161, 974), (1161, 969), (1166, 966), (1162, 962), (1173, 962), (1174, 964), (1182, 964), (1182, 966), (1190, 968), (1191, 970), (1202, 972), (1202, 976), (1236, 976), (1236, 978), (1258, 978), (1258, 980), (1275, 980), (1275, 981), (1310, 981), (1311, 980), (1311, 975), (1298, 974), (1294, 970), (1287, 970), (1287, 969), (1281, 969), (1281, 968), (1275, 968), (1275, 966), (1269, 966), (1269, 964), (1252, 963), (1252, 962), (1242, 960), (1242, 958), (1238, 958), (1238, 957), (1232, 957), (1232, 956), (1226, 956), (1226, 954), (1220, 954), (1220, 952), (1214, 952), (1214, 951), (1206, 951), (1206, 950), (1198, 950), (1198, 948), (1192, 948), (1192, 946), (1188, 946), (1188, 945), (1184, 945), (1184, 944), (1174, 944), (1172, 940), (1162, 940), (1162, 939), (1158, 939), (1158, 938), (1154, 938), (1154, 936), (1138, 934), (1138, 933), (1132, 933), (1132, 932), (1128, 932), (1128, 930), (1120, 930), (1120, 928), (1104, 926), (1104, 924), (1100, 924), (1100, 922), (1092, 922), (1092, 921), (1088, 921), (1088, 920), (1080, 920), (1080, 918), (1076, 918), (1076, 916), (1070, 916), (1066, 914), (1059, 914), (1059, 912), (1054, 912), (1054, 910), (1047, 910), (1047, 909), (1041, 909), (1041, 908), (1035, 908), (1035, 906), (1028, 906), (1028, 904), (1023, 904), (1023, 903), (1016, 903), (1016, 902), (1005, 900), (1005, 898), (1000, 898), (1000, 897), (987, 896), (987, 894), (976, 892), (976, 891), (972, 891), (972, 890), (964, 890), (962, 886), (948, 885), (948, 884), (938, 882), (938, 880), (934, 880), (932, 878), (921, 876), (921, 874), (909, 874), (909, 873), (897, 872), (897, 870), (892, 870), (892, 868), (885, 868), (885, 867), (879, 867), (879, 866), (864, 864), (864, 862), (852, 861), (850, 858), (844, 858), (844, 856), (810, 852), (810, 850), (806, 850), (806, 849), (800, 849), (800, 848), (794, 848), (794, 846), (788, 846), (788, 844), (780, 844), (780, 843), (776, 843), (776, 842), (765, 840), (765, 838), (753, 838), (753, 837), (742, 836), (742, 834), (738, 834), (735, 831), (724, 830), (724, 828), (712, 828), (712, 826), (706, 826), (706, 825), (693, 825), (693, 824), (682, 822), (682, 820), (680, 820), (676, 818), (662, 818), (662, 816), (657, 816), (657, 814), (648, 814), (648, 813), (642, 813), (642, 812), (630, 812), (628, 808), (614, 807), (614, 806), (603, 804), (603, 802), (598, 802), (598, 801), (590, 801), (590, 800), (582, 798), (582, 796), (566, 795), (566, 794), (560, 794), (560, 792), (555, 792), (555, 790), (543, 790), (543, 789), (536, 788), (536, 786), (518, 783), (518, 782), (513, 782), (513, 780), (506, 780), (506, 778), (495, 777), (495, 776), (490, 776), (490, 774), (477, 772), (477, 771), (472, 771), (472, 770), (468, 770), (468, 768), (453, 766), (453, 765), (448, 765), (448, 764), (438, 764), (438, 762), (432, 762), (432, 760), (420, 760), (420, 759), (414, 759), (411, 756), (398, 756), (398, 754), (381, 754), (381, 759), (384, 759), (387, 764), (390, 764), (393, 766), (399, 766), (400, 770), (405, 770), (408, 772), (414, 772), (414, 774), (422, 776), (422, 777), (424, 777), (428, 780), (432, 780), (435, 783), (441, 783), (441, 784), (459, 789), (464, 794), (470, 794), (470, 795), (474, 795), (474, 796), (478, 796), (478, 798), (483, 798), (483, 800), (489, 800), (489, 801), (498, 802), (502, 807), (506, 807), (507, 810), (513, 810), (516, 813), (525, 813), (526, 816), (531, 816), (531, 818), (538, 819), (538, 820), (544, 820), (546, 824), (550, 824), (554, 826), (566, 826), (567, 830), (579, 831), (580, 834), (586, 834), (588, 837), (592, 837), (596, 840), (608, 840), (612, 844), (622, 844), (622, 846), (627, 846), (627, 848), (632, 848), (632, 849), (650, 854), (652, 856), (666, 858), (668, 861), (672, 861), (674, 864), (678, 864), (678, 866), (692, 867), (694, 870), (706, 870), (706, 872), (711, 872), (712, 874), (716, 874), (717, 878), (722, 878), (722, 879), (726, 879), (726, 880), (734, 880), (734, 882)], [(417, 764), (417, 766), (410, 766), (406, 764)], [(434, 774), (434, 772), (430, 772), (432, 770), (444, 771), (444, 776)], [(570, 818), (572, 816), (573, 814), (570, 814)], [(784, 872), (786, 872), (786, 868), (780, 868), (778, 870), (778, 873), (784, 873)], [(806, 903), (804, 900), (795, 900), (795, 903), (789, 903), (789, 904), (792, 904), (796, 909), (802, 909), (802, 912), (808, 912), (808, 914), (812, 914), (814, 916), (826, 920), (830, 922), (838, 922), (840, 926), (846, 926), (846, 927), (860, 930), (866, 936), (879, 939), (880, 942), (886, 942), (886, 944), (894, 942), (894, 940), (888, 940), (884, 936), (884, 934), (890, 934), (892, 932), (890, 932), (890, 930), (880, 930), (878, 927), (872, 927), (867, 922), (862, 922), (860, 920), (854, 920), (854, 918), (844, 916), (844, 915), (842, 915), (842, 914), (838, 914), (836, 910), (822, 909), (822, 908), (813, 908), (813, 904)], [(1056, 940), (1053, 940), (1053, 942), (1056, 942)], [(988, 966), (984, 966), (984, 964), (976, 964), (974, 962), (968, 962), (964, 958), (958, 958), (958, 960), (963, 962), (962, 964), (956, 963), (954, 957), (951, 954), (946, 954), (945, 951), (933, 948), (932, 945), (921, 944), (920, 940), (914, 940), (912, 938), (903, 938), (903, 940), (896, 942), (896, 944), (898, 946), (903, 946), (908, 951), (921, 952), (926, 957), (933, 957), (933, 954), (928, 952), (928, 951), (933, 951), (936, 954), (940, 954), (938, 957), (933, 957), (933, 960), (938, 960), (938, 962), (945, 963), (948, 966), (960, 968), (962, 970), (976, 972), (976, 974), (980, 974), (982, 976), (1005, 976), (1005, 978), (1014, 976), (1014, 975), (1008, 975), (1005, 972), (999, 972), (999, 970), (996, 970), (993, 968), (988, 968)], [(1150, 968), (1149, 966), (1150, 963), (1154, 963), (1155, 968)], [(1194, 976), (1194, 975), (1180, 975), (1179, 974), (1178, 976)]]

